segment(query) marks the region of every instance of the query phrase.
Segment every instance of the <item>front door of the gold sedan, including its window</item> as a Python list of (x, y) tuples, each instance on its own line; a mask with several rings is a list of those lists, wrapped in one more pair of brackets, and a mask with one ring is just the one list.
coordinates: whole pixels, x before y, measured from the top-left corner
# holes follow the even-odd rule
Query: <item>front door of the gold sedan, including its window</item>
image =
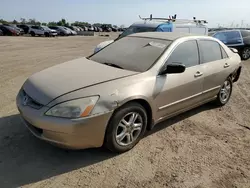
[(166, 65), (170, 63), (183, 63), (186, 70), (180, 74), (157, 77), (156, 88), (161, 88), (155, 98), (158, 120), (201, 102), (204, 70), (199, 64), (196, 40), (179, 44), (169, 56)]

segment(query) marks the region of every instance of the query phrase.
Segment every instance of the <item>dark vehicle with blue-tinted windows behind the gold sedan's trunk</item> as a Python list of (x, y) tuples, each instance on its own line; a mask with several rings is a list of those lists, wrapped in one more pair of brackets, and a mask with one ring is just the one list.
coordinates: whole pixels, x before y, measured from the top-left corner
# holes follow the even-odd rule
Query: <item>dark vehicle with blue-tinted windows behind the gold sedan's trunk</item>
[(250, 58), (250, 31), (249, 30), (224, 30), (212, 34), (228, 47), (238, 50), (242, 60)]

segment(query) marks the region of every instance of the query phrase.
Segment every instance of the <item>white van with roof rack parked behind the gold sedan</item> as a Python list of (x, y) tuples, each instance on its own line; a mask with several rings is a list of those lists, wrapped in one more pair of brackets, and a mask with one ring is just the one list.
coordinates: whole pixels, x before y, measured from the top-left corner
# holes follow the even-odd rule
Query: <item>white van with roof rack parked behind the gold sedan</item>
[[(192, 20), (187, 19), (176, 19), (176, 15), (172, 18), (141, 18), (142, 21), (133, 23), (128, 29), (126, 29), (119, 37), (120, 39), (124, 36), (140, 33), (140, 32), (182, 32), (182, 33), (193, 33), (199, 35), (208, 35), (208, 27), (206, 20), (197, 20), (195, 17)], [(114, 42), (109, 40), (100, 43), (95, 48), (94, 52), (98, 52), (100, 49)]]

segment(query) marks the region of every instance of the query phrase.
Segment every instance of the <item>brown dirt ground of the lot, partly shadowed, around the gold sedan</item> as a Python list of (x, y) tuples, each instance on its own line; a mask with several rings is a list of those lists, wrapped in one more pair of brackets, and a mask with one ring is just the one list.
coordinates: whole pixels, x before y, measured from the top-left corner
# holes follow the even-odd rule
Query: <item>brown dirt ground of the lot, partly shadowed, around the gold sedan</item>
[(16, 94), (31, 74), (88, 55), (105, 37), (0, 37), (0, 187), (250, 187), (250, 61), (230, 102), (167, 120), (131, 151), (65, 151), (30, 134)]

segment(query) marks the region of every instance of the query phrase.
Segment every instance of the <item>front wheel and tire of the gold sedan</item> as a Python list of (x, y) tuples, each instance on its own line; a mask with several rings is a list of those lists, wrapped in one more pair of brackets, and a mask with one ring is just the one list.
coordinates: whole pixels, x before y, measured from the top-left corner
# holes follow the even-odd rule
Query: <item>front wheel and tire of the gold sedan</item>
[[(131, 121), (132, 119), (133, 121)], [(135, 102), (127, 103), (115, 111), (110, 119), (104, 145), (115, 153), (126, 152), (140, 141), (146, 126), (147, 113), (144, 107)]]

